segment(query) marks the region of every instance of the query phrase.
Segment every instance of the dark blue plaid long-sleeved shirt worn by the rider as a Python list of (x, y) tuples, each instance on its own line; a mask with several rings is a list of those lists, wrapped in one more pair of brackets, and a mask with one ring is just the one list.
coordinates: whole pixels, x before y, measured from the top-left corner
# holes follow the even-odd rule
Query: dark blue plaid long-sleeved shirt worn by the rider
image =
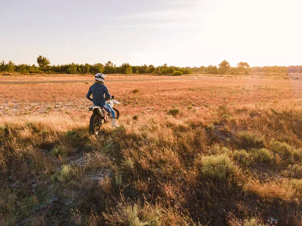
[[(93, 96), (91, 98), (90, 96)], [(94, 105), (103, 106), (106, 103), (106, 98), (111, 99), (111, 95), (108, 91), (108, 88), (106, 85), (102, 83), (94, 83), (92, 86), (90, 86), (89, 91), (86, 95), (87, 99), (93, 101)]]

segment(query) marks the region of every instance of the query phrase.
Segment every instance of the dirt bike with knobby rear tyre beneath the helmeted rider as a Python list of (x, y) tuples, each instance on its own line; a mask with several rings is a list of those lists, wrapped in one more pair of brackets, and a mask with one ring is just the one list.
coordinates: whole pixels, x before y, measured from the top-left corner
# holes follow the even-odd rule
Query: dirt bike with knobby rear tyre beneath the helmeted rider
[[(119, 118), (119, 111), (115, 107), (113, 107), (114, 103), (120, 104), (116, 100), (108, 100), (107, 103), (111, 106), (111, 108), (115, 111), (115, 117), (116, 119)], [(104, 123), (107, 123), (110, 121), (110, 114), (101, 106), (98, 105), (93, 105), (89, 107), (89, 111), (92, 111), (93, 114), (90, 117), (90, 122), (89, 122), (89, 133), (90, 134), (95, 134), (98, 135), (101, 131), (101, 126)]]

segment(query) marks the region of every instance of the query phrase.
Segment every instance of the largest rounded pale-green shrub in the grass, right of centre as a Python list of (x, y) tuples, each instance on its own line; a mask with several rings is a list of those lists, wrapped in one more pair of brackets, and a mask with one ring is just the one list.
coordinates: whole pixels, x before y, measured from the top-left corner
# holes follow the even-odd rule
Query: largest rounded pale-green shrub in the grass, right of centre
[(223, 180), (236, 171), (236, 166), (226, 155), (211, 155), (201, 159), (204, 177)]

